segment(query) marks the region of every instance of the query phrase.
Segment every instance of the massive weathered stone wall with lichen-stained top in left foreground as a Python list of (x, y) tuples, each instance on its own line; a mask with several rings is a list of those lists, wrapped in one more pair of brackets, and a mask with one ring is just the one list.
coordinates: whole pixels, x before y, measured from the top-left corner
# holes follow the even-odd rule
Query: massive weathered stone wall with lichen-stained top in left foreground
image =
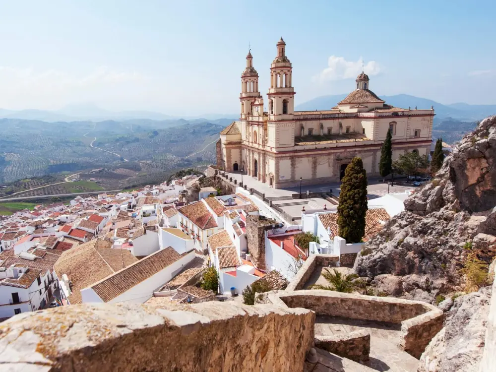
[(0, 325), (2, 371), (303, 371), (315, 314), (270, 305), (75, 305)]

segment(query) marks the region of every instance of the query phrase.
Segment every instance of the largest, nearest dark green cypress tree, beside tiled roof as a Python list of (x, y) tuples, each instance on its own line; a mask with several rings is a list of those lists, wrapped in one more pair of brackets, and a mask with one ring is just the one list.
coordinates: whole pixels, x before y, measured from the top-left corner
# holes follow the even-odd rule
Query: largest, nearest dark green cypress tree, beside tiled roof
[(339, 193), (339, 236), (348, 243), (360, 243), (365, 235), (367, 176), (361, 158), (354, 157), (346, 167)]

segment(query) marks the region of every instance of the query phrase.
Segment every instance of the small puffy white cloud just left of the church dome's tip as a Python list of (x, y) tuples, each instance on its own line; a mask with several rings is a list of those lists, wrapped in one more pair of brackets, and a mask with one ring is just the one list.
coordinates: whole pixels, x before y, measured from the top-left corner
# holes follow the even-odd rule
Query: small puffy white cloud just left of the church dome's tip
[[(343, 57), (331, 56), (327, 61), (327, 67), (324, 68), (318, 75), (313, 77), (314, 81), (331, 81), (355, 79), (362, 72), (363, 58), (356, 62), (346, 61)], [(380, 67), (377, 62), (369, 61), (363, 65), (364, 72), (368, 75), (377, 75), (380, 72)]]

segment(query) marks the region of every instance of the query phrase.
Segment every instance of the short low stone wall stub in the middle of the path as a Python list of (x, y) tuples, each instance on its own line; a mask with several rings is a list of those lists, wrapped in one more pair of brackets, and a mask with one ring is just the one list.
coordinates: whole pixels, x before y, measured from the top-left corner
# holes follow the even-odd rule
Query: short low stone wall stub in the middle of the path
[(365, 329), (342, 336), (315, 335), (314, 345), (340, 357), (364, 363), (369, 360), (371, 336)]

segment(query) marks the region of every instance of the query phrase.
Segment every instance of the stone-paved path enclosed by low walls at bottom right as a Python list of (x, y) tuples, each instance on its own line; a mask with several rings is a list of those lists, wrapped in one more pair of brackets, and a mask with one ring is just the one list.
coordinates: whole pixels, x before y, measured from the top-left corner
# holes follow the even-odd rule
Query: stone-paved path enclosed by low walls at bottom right
[(332, 316), (317, 316), (315, 319), (316, 335), (338, 336), (361, 329), (366, 329), (371, 335), (368, 367), (381, 372), (417, 371), (418, 359), (399, 347), (401, 324)]

